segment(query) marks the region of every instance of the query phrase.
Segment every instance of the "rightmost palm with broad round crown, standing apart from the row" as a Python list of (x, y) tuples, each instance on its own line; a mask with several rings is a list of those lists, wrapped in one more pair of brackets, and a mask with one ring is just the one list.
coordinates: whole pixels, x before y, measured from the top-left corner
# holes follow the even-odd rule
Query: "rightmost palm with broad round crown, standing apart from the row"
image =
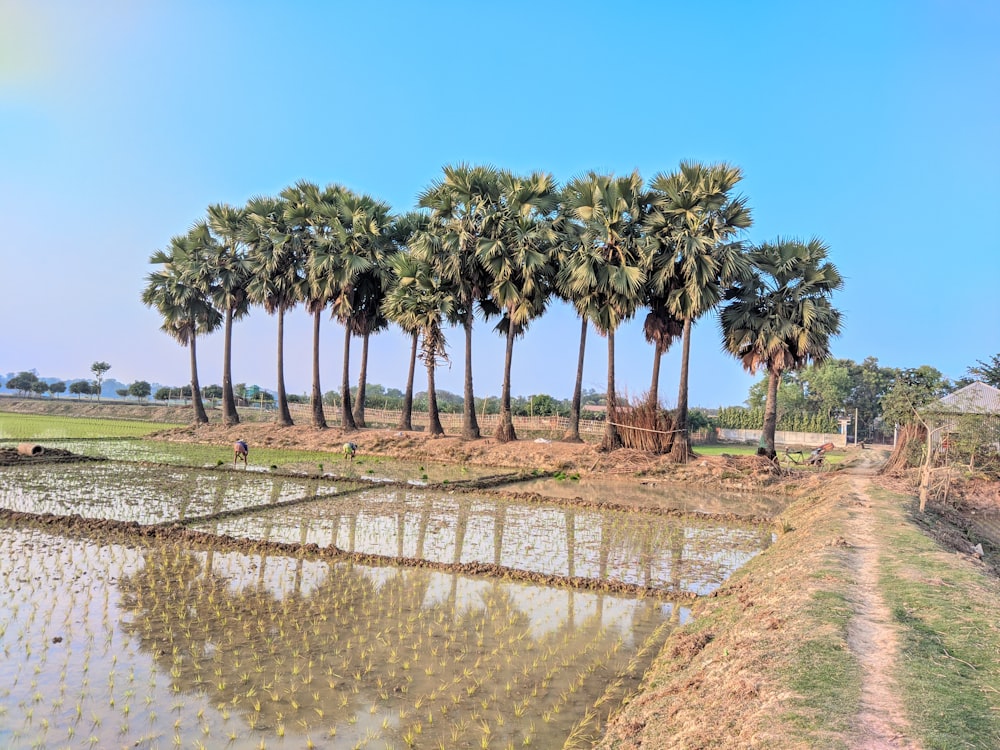
[(829, 248), (819, 239), (783, 240), (753, 249), (753, 271), (727, 290), (729, 304), (720, 320), (724, 346), (748, 372), (767, 369), (763, 447), (776, 455), (778, 384), (783, 373), (819, 363), (830, 355), (830, 339), (840, 332), (840, 312), (830, 304), (843, 286)]

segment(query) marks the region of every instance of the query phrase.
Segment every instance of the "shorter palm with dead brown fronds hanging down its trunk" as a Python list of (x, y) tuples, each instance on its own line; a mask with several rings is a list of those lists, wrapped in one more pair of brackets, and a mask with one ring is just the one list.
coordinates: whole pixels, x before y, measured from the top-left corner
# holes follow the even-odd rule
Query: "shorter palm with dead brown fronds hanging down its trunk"
[(438, 361), (448, 359), (443, 325), (454, 314), (458, 292), (442, 284), (435, 267), (421, 254), (395, 253), (389, 267), (394, 281), (382, 309), (404, 331), (420, 332), (420, 359), (427, 367), (427, 430), (430, 435), (443, 435), (434, 373)]

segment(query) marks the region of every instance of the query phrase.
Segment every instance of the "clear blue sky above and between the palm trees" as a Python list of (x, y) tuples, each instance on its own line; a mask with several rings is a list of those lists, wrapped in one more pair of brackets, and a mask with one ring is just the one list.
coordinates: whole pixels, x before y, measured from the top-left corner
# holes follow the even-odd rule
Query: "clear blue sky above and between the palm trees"
[[(104, 360), (123, 383), (188, 382), (139, 297), (150, 254), (210, 203), (307, 179), (405, 211), (448, 163), (564, 182), (695, 159), (744, 170), (748, 240), (829, 244), (846, 277), (834, 356), (961, 377), (1000, 352), (998, 40), (994, 0), (0, 0), (0, 373), (69, 380)], [(497, 395), (502, 340), (475, 331), (476, 393)], [(235, 326), (234, 382), (275, 386), (275, 334), (262, 310)], [(291, 393), (309, 390), (310, 336), (292, 313)], [(578, 337), (565, 307), (537, 321), (514, 395), (569, 396)], [(461, 393), (448, 341), (438, 387)], [(644, 392), (641, 319), (616, 343), (620, 387)], [(324, 321), (324, 391), (341, 345)], [(402, 388), (408, 354), (373, 339), (369, 381)], [(221, 333), (199, 355), (201, 382), (221, 382)], [(603, 390), (606, 367), (591, 332), (584, 386)], [(739, 404), (754, 380), (714, 318), (696, 326), (692, 405)]]

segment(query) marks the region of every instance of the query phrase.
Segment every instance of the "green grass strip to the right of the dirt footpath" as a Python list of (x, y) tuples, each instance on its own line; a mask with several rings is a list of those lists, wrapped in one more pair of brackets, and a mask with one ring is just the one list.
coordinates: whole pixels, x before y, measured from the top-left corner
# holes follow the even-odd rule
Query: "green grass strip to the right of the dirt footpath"
[(900, 629), (897, 679), (914, 730), (925, 747), (1000, 747), (1000, 587), (911, 524), (880, 521), (892, 550), (880, 585)]

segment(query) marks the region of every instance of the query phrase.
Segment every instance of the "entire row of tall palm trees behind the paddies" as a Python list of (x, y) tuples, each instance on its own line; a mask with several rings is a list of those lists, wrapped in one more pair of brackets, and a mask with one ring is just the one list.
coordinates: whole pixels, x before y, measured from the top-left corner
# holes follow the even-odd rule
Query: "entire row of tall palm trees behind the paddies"
[[(581, 320), (571, 427), (579, 440), (587, 329), (608, 342), (607, 403), (616, 407), (614, 335), (646, 310), (653, 345), (649, 391), (658, 401), (660, 360), (683, 346), (672, 455), (686, 460), (687, 389), (693, 323), (722, 303), (725, 347), (751, 372), (763, 367), (776, 390), (783, 371), (821, 361), (839, 332), (830, 304), (842, 284), (819, 240), (778, 240), (753, 247), (743, 234), (750, 209), (734, 190), (741, 170), (728, 164), (682, 162), (645, 183), (638, 172), (589, 172), (561, 189), (544, 172), (518, 175), (489, 166), (447, 166), (419, 196), (419, 210), (395, 215), (371, 196), (341, 185), (299, 182), (277, 197), (251, 198), (243, 207), (209, 206), (204, 220), (174, 237), (150, 262), (146, 305), (162, 329), (188, 347), (197, 422), (207, 422), (199, 393), (196, 340), (223, 328), (222, 409), (239, 422), (232, 387), (232, 326), (254, 306), (277, 316), (278, 421), (292, 424), (283, 372), (284, 315), (303, 304), (313, 317), (312, 424), (326, 427), (319, 382), (319, 331), (330, 311), (345, 330), (341, 421), (364, 426), (368, 341), (390, 323), (410, 336), (411, 356), (400, 429), (412, 429), (415, 363), (427, 371), (429, 431), (443, 434), (437, 413), (435, 368), (448, 357), (444, 330), (465, 334), (462, 436), (480, 437), (474, 408), (472, 332), (477, 317), (496, 319), (505, 337), (500, 425), (496, 437), (514, 440), (510, 373), (514, 341), (553, 299), (573, 305)], [(349, 384), (352, 338), (362, 341), (357, 399)], [(776, 399), (769, 392), (771, 438)], [(772, 413), (773, 412), (773, 413)], [(765, 421), (765, 427), (767, 426)], [(621, 445), (609, 418), (603, 446)]]

